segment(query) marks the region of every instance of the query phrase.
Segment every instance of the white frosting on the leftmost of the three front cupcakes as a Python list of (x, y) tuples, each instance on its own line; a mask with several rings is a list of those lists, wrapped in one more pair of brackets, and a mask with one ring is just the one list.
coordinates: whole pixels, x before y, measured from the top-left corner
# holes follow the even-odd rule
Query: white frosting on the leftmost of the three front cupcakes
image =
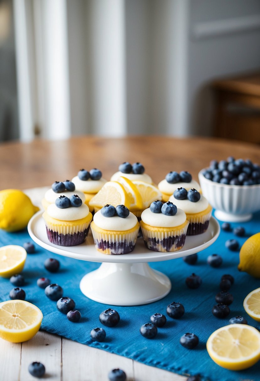
[(47, 213), (52, 218), (60, 221), (75, 221), (76, 219), (82, 219), (87, 217), (89, 213), (88, 206), (82, 204), (80, 207), (58, 208), (55, 204), (51, 204), (47, 208)]

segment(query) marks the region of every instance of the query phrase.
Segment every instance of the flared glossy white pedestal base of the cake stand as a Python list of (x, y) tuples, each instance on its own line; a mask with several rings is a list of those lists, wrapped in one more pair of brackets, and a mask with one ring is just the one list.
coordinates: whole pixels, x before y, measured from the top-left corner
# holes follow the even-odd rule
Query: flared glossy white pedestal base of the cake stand
[(139, 306), (164, 298), (170, 279), (148, 263), (102, 263), (80, 281), (88, 298), (114, 306)]

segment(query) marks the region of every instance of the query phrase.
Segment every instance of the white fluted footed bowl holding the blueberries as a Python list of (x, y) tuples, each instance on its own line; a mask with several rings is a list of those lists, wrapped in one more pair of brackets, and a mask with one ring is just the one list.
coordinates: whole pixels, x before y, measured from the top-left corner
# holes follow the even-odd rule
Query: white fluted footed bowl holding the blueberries
[(202, 194), (215, 208), (215, 217), (228, 222), (249, 221), (252, 213), (260, 210), (260, 184), (220, 184), (206, 179), (204, 170), (199, 172), (199, 183)]

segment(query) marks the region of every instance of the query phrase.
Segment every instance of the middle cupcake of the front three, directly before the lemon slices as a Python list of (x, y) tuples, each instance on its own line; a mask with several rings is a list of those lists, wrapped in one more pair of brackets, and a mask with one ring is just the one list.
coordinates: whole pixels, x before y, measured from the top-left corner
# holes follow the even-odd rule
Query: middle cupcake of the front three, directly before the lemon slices
[(96, 250), (103, 254), (127, 254), (135, 248), (140, 224), (124, 205), (105, 205), (91, 222)]

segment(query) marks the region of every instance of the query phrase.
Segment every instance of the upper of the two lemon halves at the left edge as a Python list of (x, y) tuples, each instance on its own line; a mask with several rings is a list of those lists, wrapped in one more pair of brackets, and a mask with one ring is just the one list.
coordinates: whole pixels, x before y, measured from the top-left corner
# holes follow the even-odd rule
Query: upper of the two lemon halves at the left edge
[(8, 245), (0, 248), (0, 276), (10, 278), (19, 274), (24, 268), (26, 250), (18, 245)]

